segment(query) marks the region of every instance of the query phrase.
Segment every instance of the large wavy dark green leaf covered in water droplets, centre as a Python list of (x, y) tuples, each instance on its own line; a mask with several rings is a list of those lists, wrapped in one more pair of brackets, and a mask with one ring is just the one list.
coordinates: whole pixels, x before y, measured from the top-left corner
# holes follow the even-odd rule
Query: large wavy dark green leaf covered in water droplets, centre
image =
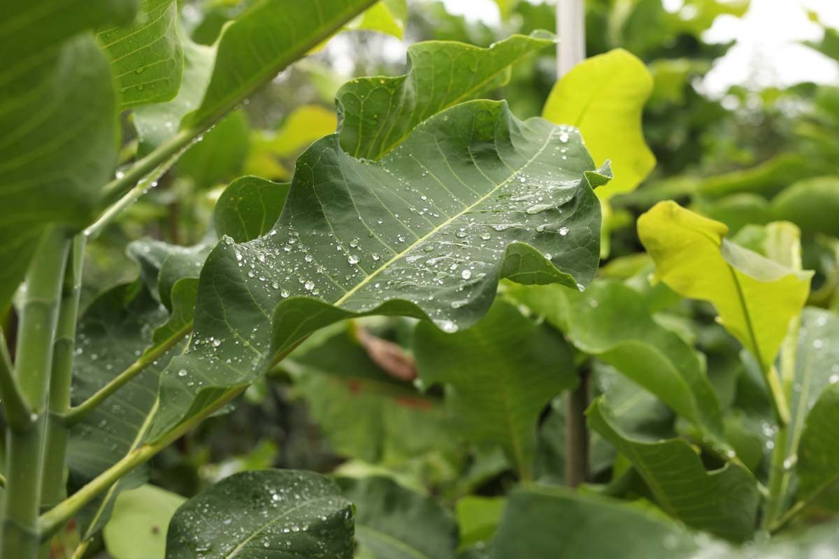
[(153, 437), (337, 320), (404, 314), (453, 331), (486, 313), (500, 277), (590, 282), (591, 184), (607, 181), (592, 168), (575, 132), (496, 101), (440, 113), (375, 163), (344, 153), (337, 134), (316, 142), (274, 229), (208, 257), (195, 336), (161, 381)]

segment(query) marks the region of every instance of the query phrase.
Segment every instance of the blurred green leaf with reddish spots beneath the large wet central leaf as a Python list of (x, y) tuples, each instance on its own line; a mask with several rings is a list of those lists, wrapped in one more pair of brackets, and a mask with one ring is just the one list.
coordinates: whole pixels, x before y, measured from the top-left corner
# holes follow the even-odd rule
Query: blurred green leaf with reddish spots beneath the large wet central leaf
[(448, 435), (451, 426), (440, 399), (385, 373), (347, 332), (300, 348), (284, 368), (342, 456), (395, 468), (430, 454), (456, 452), (460, 442)]

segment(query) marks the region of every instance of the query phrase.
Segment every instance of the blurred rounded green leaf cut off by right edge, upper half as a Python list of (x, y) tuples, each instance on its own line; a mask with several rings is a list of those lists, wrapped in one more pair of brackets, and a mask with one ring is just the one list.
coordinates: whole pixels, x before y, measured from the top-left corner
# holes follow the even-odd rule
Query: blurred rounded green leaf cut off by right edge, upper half
[(839, 237), (839, 177), (805, 179), (784, 189), (770, 204), (776, 220), (789, 220), (805, 234)]

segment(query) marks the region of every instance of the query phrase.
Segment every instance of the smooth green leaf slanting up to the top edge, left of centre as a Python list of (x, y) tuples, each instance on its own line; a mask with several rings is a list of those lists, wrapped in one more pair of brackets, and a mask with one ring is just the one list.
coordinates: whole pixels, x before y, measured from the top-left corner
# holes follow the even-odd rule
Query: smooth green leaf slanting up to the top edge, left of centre
[(373, 0), (253, 4), (224, 28), (206, 93), (185, 125), (216, 122), (371, 4)]

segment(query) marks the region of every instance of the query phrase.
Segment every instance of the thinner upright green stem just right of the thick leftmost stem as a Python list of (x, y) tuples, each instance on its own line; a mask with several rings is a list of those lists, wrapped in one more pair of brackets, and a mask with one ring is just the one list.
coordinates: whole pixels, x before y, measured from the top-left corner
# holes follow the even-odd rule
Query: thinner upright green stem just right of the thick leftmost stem
[(65, 498), (65, 458), (69, 430), (60, 415), (70, 407), (70, 384), (73, 376), (73, 351), (76, 349), (76, 317), (81, 294), (81, 267), (84, 261), (85, 236), (76, 235), (67, 260), (58, 328), (53, 344), (50, 379), (50, 416), (47, 418), (44, 445), (44, 472), (41, 476), (41, 506), (49, 507)]

